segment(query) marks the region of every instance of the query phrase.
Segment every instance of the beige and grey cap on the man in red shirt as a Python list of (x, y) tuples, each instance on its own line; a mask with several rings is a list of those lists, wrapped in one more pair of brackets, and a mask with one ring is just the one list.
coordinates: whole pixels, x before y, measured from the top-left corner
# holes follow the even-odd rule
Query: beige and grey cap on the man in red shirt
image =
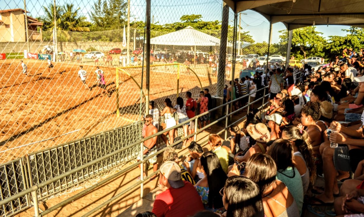
[(161, 165), (160, 171), (168, 180), (172, 188), (181, 188), (185, 186), (182, 181), (181, 168), (174, 161), (166, 161)]

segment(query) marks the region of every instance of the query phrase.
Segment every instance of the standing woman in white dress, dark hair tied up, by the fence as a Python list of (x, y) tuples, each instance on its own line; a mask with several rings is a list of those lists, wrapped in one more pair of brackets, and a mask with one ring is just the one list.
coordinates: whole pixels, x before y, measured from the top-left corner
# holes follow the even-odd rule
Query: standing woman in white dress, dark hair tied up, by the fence
[[(166, 107), (164, 107), (163, 110), (161, 111), (161, 116), (164, 116), (164, 125), (165, 125), (165, 127), (163, 127), (163, 130), (176, 126), (176, 120), (173, 118), (174, 110), (171, 99), (166, 98), (164, 100), (164, 104), (166, 105)], [(166, 136), (167, 134), (169, 135), (169, 142), (167, 140)], [(166, 145), (169, 146), (174, 142), (174, 129), (163, 133), (161, 137), (163, 142), (165, 142)]]

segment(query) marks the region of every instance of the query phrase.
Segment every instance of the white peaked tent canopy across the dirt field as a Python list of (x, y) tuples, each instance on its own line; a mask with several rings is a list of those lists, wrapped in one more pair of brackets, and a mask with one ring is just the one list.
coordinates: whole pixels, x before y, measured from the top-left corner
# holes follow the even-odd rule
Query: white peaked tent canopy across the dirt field
[[(150, 44), (155, 45), (179, 45), (179, 46), (219, 46), (220, 38), (200, 32), (191, 26), (176, 32), (150, 39)], [(228, 43), (228, 46), (232, 46)]]

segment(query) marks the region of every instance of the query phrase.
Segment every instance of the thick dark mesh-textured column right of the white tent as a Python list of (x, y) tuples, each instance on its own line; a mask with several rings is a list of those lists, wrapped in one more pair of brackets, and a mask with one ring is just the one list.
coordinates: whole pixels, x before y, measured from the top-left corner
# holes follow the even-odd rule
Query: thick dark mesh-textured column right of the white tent
[[(227, 46), (227, 30), (229, 28), (229, 6), (224, 2), (222, 6), (222, 19), (221, 19), (221, 38), (219, 50), (219, 62), (217, 73), (217, 102), (216, 106), (222, 105), (223, 89), (225, 85), (225, 65), (226, 65), (226, 46)], [(222, 115), (222, 109), (217, 110), (218, 116)]]

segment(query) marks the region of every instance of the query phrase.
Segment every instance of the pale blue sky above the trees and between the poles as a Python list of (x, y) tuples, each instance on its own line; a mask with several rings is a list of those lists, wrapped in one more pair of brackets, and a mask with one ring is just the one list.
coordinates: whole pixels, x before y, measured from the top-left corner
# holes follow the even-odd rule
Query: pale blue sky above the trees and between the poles
[[(0, 0), (4, 1), (4, 0)], [(81, 13), (89, 17), (88, 13), (92, 10), (95, 0), (56, 0), (58, 5), (65, 3), (73, 3), (80, 7)], [(30, 11), (31, 16), (42, 16), (42, 6), (49, 4), (53, 1), (41, 0), (26, 0), (27, 10)], [(182, 15), (186, 14), (200, 14), (204, 21), (221, 21), (222, 16), (222, 1), (221, 0), (153, 0), (151, 1), (151, 15), (154, 15), (154, 22), (159, 24), (166, 24), (178, 22)], [(145, 0), (131, 0), (130, 1), (130, 14), (131, 20), (145, 20)], [(0, 9), (11, 8), (24, 8), (23, 0), (5, 0), (5, 4), (1, 4)], [(241, 15), (241, 27), (243, 31), (249, 31), (256, 42), (268, 41), (269, 22), (259, 13), (248, 10), (245, 11), (246, 15)], [(233, 25), (234, 14), (230, 10), (229, 24)], [(341, 29), (348, 29), (348, 26), (316, 26), (318, 32), (322, 32), (324, 37), (338, 35), (344, 36), (346, 33)], [(273, 25), (272, 41), (276, 43), (279, 41), (279, 30), (285, 29), (282, 23)]]

